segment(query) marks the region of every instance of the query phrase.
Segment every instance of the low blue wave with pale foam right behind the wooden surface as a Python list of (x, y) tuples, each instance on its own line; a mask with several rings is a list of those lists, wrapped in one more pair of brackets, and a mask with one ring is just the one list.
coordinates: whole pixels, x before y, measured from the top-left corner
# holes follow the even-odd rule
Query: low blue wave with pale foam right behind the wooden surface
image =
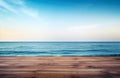
[(106, 50), (83, 51), (84, 50), (0, 51), (0, 56), (120, 56), (120, 52), (103, 52)]

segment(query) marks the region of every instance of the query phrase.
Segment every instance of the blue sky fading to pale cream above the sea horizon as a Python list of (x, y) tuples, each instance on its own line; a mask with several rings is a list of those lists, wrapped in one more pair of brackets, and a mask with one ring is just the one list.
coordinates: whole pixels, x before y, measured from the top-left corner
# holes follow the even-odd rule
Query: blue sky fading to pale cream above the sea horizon
[(0, 41), (120, 41), (120, 0), (0, 0)]

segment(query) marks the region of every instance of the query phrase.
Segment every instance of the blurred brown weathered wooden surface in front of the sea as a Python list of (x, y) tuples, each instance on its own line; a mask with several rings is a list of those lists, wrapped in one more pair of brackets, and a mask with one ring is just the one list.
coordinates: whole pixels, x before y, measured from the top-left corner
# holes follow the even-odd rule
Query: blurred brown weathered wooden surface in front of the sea
[(120, 57), (0, 57), (0, 78), (120, 78)]

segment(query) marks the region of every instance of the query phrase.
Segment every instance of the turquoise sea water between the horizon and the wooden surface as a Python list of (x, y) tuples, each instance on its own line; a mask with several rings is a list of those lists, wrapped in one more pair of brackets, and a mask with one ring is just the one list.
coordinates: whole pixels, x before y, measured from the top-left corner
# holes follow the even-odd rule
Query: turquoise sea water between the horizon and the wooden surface
[(120, 56), (120, 42), (0, 42), (0, 56)]

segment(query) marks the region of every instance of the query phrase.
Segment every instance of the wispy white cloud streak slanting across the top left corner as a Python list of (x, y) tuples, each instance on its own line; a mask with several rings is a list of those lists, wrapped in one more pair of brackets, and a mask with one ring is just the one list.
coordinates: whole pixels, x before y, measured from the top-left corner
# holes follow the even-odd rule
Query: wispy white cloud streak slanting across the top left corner
[[(12, 4), (10, 4), (10, 3)], [(3, 7), (5, 10), (10, 11), (17, 15), (27, 15), (34, 19), (39, 19), (39, 13), (37, 11), (31, 10), (25, 5), (24, 0), (0, 0), (0, 7)], [(13, 4), (19, 5), (20, 7), (16, 7)]]

